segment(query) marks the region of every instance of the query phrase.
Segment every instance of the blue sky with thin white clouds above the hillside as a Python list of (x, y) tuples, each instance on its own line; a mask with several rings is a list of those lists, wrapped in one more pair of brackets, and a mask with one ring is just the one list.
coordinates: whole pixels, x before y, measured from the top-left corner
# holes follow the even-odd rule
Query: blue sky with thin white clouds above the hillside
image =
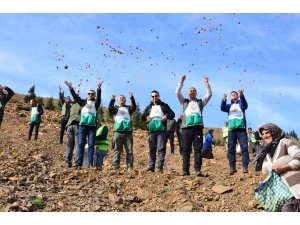
[[(274, 122), (300, 135), (300, 14), (0, 14), (0, 83), (17, 93), (65, 93), (64, 80), (85, 90), (104, 80), (102, 104), (133, 91), (143, 110), (156, 89), (176, 116), (175, 89), (195, 86), (213, 97), (207, 127), (222, 127), (223, 93), (245, 89), (248, 126)], [(119, 51), (119, 52), (118, 52)], [(123, 54), (120, 54), (123, 53)], [(65, 69), (65, 66), (68, 66)]]

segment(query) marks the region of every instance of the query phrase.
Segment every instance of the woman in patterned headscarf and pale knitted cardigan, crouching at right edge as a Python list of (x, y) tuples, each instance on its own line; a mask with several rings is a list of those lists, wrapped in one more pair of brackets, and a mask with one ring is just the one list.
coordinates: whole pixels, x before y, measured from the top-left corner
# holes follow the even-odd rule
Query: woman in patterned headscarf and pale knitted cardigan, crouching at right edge
[[(300, 149), (290, 139), (286, 138), (282, 129), (273, 123), (259, 127), (262, 140), (259, 141), (257, 164), (261, 162), (264, 176), (269, 171), (276, 172), (288, 186), (293, 197), (287, 200), (282, 212), (300, 211)], [(268, 160), (271, 159), (271, 163)], [(258, 167), (257, 167), (258, 168)]]

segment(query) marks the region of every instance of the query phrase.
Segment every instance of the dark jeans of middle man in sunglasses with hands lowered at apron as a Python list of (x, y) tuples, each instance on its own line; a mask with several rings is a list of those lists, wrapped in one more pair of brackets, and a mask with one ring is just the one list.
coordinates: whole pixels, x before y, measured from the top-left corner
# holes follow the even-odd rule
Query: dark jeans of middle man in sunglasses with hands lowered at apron
[(149, 168), (155, 169), (156, 151), (158, 151), (159, 170), (163, 170), (166, 155), (166, 131), (149, 132), (148, 141), (150, 148)]

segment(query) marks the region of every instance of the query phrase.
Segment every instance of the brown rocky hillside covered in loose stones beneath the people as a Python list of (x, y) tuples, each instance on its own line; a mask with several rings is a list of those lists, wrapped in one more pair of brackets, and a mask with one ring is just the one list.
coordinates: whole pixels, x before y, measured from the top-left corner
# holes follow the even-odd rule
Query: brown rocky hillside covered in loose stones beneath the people
[[(66, 144), (58, 141), (58, 112), (45, 111), (37, 142), (27, 141), (29, 113), (8, 103), (0, 134), (0, 211), (263, 211), (252, 187), (261, 181), (251, 165), (230, 176), (224, 149), (213, 148), (214, 159), (203, 159), (204, 177), (182, 177), (178, 146), (167, 146), (165, 171), (146, 172), (147, 133), (134, 131), (134, 170), (111, 169), (112, 151), (102, 171), (66, 168)], [(65, 136), (66, 142), (66, 136)], [(122, 155), (124, 164), (125, 155)], [(251, 157), (253, 159), (253, 157)], [(192, 166), (193, 168), (193, 162)]]

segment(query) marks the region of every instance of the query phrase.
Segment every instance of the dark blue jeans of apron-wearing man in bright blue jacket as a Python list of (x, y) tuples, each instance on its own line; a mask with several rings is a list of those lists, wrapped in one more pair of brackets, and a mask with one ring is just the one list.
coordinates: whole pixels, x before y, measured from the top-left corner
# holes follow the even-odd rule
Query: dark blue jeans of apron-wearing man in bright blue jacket
[(228, 131), (228, 160), (230, 169), (236, 169), (236, 150), (235, 146), (239, 141), (242, 151), (243, 168), (248, 168), (249, 152), (248, 137), (245, 129), (235, 129)]

